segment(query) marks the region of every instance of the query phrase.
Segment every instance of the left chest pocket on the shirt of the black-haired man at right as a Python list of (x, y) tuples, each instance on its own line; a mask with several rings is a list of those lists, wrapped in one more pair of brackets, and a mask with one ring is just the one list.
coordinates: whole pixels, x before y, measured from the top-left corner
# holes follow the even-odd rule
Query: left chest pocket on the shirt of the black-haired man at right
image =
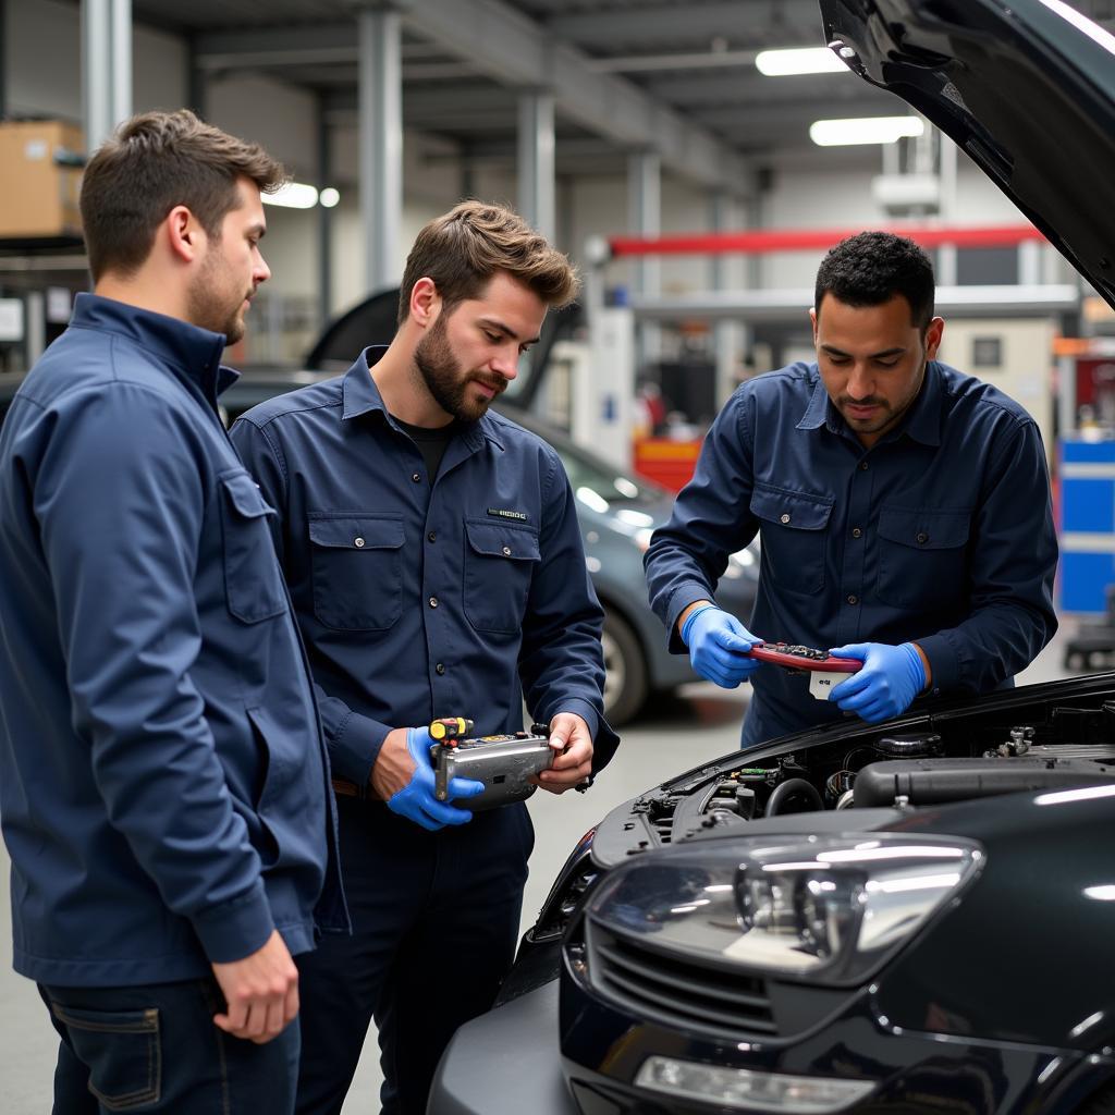
[(759, 520), (764, 574), (779, 590), (820, 592), (825, 585), (832, 497), (756, 484), (750, 508)]

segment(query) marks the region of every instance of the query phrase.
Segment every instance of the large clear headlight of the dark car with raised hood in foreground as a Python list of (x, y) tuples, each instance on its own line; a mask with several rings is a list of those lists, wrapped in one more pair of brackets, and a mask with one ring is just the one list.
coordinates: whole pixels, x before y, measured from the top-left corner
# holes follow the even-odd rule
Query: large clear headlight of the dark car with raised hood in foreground
[(702, 966), (849, 986), (912, 938), (983, 862), (979, 845), (935, 835), (734, 837), (617, 869), (590, 901), (590, 925)]

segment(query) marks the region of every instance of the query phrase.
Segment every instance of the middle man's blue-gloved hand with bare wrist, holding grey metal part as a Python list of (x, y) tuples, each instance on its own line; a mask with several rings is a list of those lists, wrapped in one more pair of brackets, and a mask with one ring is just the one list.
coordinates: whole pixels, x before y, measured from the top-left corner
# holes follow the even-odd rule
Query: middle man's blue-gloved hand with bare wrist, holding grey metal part
[[(434, 765), (429, 757), (433, 744), (429, 728), (395, 728), (387, 734), (371, 768), (372, 789), (387, 802), (387, 807), (430, 832), (473, 820), (467, 809), (458, 809), (434, 796)], [(482, 782), (449, 779), (449, 801), (483, 793)]]

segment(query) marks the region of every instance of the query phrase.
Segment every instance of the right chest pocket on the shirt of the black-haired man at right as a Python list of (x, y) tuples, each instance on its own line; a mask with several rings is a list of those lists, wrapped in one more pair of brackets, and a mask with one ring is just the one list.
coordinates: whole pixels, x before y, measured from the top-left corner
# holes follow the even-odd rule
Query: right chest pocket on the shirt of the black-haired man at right
[(928, 608), (964, 591), (968, 508), (879, 510), (879, 599), (900, 608)]

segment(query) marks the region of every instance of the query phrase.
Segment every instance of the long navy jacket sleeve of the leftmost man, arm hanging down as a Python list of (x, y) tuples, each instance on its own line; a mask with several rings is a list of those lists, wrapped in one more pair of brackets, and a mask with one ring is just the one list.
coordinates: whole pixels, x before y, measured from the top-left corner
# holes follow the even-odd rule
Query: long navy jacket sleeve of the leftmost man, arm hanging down
[(187, 419), (118, 384), (64, 411), (35, 483), (74, 727), (108, 817), (211, 961), (274, 925), (192, 677), (206, 493)]

